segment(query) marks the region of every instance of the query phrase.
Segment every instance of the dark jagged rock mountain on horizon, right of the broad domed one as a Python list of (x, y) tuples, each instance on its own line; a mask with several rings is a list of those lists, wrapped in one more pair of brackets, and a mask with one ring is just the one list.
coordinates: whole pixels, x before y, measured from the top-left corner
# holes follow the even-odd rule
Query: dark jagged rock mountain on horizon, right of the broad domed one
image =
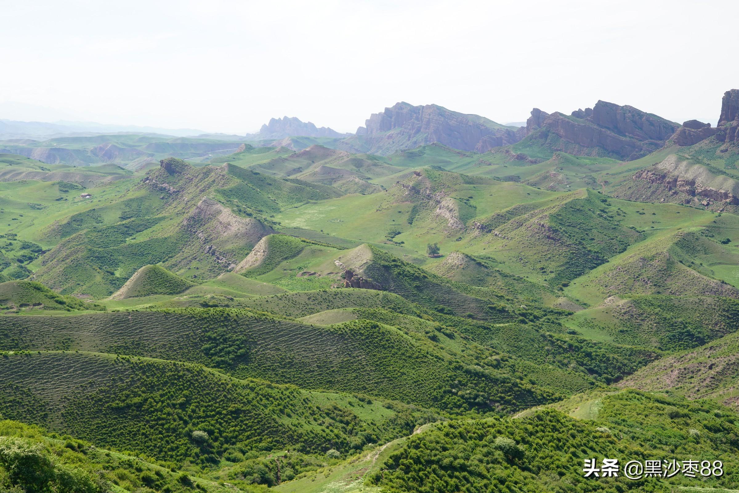
[(552, 133), (565, 141), (551, 144), (554, 151), (598, 154), (598, 149), (603, 149), (605, 154), (624, 160), (634, 160), (659, 149), (677, 129), (678, 124), (670, 120), (633, 106), (606, 101), (598, 101), (592, 109), (578, 109), (570, 116), (534, 108), (526, 121), (527, 136), (553, 142)]

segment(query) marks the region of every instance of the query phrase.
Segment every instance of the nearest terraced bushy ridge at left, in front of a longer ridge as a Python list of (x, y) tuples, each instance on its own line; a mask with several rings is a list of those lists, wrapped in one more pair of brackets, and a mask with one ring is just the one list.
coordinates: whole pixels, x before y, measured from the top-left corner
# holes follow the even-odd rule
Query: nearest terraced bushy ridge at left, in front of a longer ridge
[(177, 463), (217, 463), (239, 448), (348, 452), (355, 437), (361, 447), (406, 435), (415, 424), (407, 407), (396, 412), (192, 364), (99, 353), (1, 358), (0, 412), (7, 418)]

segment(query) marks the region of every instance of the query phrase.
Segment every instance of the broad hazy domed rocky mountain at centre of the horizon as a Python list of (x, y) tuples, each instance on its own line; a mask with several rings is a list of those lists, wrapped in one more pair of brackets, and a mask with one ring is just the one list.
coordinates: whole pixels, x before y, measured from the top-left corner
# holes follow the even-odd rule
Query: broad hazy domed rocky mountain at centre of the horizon
[(341, 149), (387, 155), (437, 142), (463, 151), (488, 152), (522, 138), (516, 128), (478, 115), (453, 112), (435, 104), (409, 103), (396, 103), (373, 114), (356, 135), (344, 140)]

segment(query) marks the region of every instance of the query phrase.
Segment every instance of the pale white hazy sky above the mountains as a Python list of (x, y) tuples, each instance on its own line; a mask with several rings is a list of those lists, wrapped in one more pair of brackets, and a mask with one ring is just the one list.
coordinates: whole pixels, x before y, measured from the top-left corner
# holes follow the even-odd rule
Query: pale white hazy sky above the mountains
[(397, 101), (500, 123), (599, 99), (718, 119), (739, 1), (0, 0), (0, 118), (354, 132)]

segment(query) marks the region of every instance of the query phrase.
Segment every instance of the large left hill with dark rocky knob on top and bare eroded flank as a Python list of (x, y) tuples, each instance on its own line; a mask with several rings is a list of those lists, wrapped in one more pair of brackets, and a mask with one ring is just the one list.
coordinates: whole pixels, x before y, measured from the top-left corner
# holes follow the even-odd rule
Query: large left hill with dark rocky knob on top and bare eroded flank
[(212, 279), (235, 268), (253, 245), (273, 233), (269, 212), (341, 194), (330, 188), (336, 193), (328, 195), (307, 183), (237, 166), (193, 168), (174, 159), (149, 171), (137, 189), (156, 204), (142, 207), (138, 200), (131, 204), (137, 208), (111, 220), (102, 209), (96, 211), (98, 216), (80, 214), (59, 221), (48, 234), (64, 239), (41, 259), (35, 278), (63, 293), (98, 298), (120, 289), (147, 264), (162, 262), (188, 278)]

